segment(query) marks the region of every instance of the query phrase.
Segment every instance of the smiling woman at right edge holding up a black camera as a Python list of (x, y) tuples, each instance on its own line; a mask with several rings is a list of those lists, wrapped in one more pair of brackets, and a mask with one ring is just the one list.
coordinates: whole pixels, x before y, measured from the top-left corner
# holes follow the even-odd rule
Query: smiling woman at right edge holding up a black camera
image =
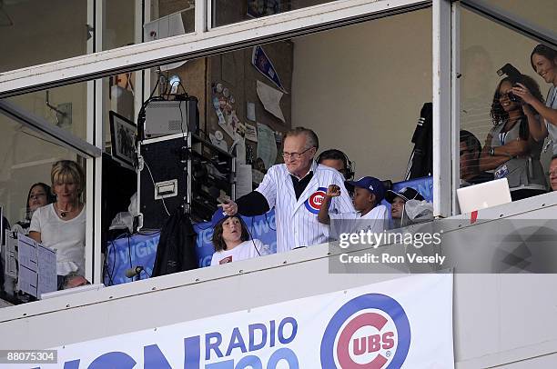
[(553, 155), (557, 155), (557, 52), (546, 45), (537, 45), (530, 55), (530, 62), (533, 70), (551, 85), (545, 105), (528, 85), (519, 83), (512, 88), (512, 93), (542, 116), (537, 125), (531, 125), (530, 132), (536, 141), (543, 141), (549, 135)]

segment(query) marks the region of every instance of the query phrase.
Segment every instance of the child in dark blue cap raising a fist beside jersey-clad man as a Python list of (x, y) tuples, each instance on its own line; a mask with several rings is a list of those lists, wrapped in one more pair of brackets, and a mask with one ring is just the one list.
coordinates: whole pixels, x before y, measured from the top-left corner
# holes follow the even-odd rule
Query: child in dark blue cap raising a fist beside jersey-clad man
[[(321, 224), (330, 224), (333, 221), (364, 221), (365, 222), (343, 222), (333, 224), (333, 238), (341, 233), (359, 233), (360, 230), (371, 231), (372, 233), (383, 232), (388, 227), (389, 216), (387, 207), (380, 202), (385, 196), (383, 183), (375, 177), (363, 177), (358, 181), (347, 181), (347, 188), (354, 189), (352, 203), (356, 212), (329, 214), (330, 201), (333, 197), (340, 195), (340, 187), (330, 184), (327, 194), (319, 209), (318, 220)], [(338, 224), (338, 225), (337, 225)]]

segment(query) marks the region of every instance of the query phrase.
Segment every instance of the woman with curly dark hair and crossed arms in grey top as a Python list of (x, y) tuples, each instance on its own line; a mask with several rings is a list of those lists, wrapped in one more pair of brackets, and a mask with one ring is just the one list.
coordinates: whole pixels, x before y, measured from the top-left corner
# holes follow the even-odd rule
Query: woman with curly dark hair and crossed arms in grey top
[(529, 126), (539, 124), (538, 115), (512, 95), (512, 85), (529, 86), (542, 99), (540, 87), (527, 75), (520, 81), (501, 80), (491, 103), (491, 119), (495, 125), (481, 151), (480, 169), (494, 170), (495, 179), (507, 178), (512, 201), (546, 192), (540, 153), (542, 142), (532, 139)]

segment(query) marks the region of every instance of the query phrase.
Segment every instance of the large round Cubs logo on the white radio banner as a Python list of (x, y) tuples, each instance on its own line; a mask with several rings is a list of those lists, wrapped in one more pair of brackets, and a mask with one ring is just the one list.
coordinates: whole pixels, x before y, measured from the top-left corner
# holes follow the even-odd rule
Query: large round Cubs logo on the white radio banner
[(410, 348), (404, 309), (384, 294), (364, 294), (333, 315), (321, 342), (324, 368), (400, 368)]

